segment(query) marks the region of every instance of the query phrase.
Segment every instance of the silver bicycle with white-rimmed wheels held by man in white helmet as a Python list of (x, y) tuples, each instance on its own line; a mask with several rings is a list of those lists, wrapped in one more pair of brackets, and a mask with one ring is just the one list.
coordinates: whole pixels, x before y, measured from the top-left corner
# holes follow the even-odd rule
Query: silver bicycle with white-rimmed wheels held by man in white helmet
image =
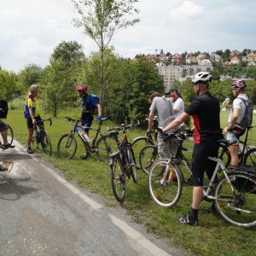
[[(225, 141), (227, 146), (229, 143)], [(208, 159), (216, 162), (216, 167), (211, 180), (204, 186), (203, 198), (213, 201), (219, 215), (230, 224), (255, 226), (255, 166), (238, 166), (235, 171), (228, 172), (222, 160), (215, 157)], [(214, 183), (218, 172), (223, 172), (223, 175)], [(160, 183), (162, 177), (167, 177), (165, 183)], [(175, 180), (173, 177), (176, 177)], [(176, 156), (169, 160), (159, 160), (154, 163), (148, 176), (150, 195), (160, 206), (174, 207), (182, 194), (183, 181), (183, 172), (177, 165)]]

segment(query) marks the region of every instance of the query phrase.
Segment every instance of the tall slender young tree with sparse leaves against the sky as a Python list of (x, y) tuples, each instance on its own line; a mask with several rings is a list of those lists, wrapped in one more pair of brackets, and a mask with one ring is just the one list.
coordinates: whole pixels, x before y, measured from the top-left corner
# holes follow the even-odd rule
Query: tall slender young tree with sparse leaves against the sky
[(104, 53), (113, 33), (135, 25), (139, 20), (127, 20), (127, 15), (134, 15), (138, 10), (133, 3), (139, 0), (72, 0), (80, 19), (74, 19), (74, 26), (83, 27), (84, 33), (92, 38), (101, 52), (100, 98), (104, 87)]

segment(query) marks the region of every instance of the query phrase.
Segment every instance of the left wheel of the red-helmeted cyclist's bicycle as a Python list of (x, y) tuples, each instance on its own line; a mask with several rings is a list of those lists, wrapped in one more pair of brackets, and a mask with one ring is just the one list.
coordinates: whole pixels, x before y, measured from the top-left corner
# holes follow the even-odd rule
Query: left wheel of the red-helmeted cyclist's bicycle
[(72, 159), (76, 154), (78, 143), (73, 134), (67, 133), (61, 136), (57, 145), (57, 153), (62, 159)]

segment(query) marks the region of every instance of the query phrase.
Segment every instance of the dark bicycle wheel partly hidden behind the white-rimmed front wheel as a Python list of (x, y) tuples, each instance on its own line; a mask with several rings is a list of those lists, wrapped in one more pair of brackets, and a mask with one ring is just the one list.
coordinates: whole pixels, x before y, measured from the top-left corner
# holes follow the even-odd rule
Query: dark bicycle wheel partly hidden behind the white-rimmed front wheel
[(139, 163), (143, 172), (149, 174), (150, 167), (153, 166), (154, 162), (159, 160), (158, 150), (153, 145), (148, 145), (142, 149), (139, 155)]

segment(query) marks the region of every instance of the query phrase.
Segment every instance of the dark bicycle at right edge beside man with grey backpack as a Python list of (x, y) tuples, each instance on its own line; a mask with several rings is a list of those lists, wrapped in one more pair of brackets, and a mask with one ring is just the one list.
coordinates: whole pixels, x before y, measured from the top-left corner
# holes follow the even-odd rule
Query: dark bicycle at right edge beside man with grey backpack
[[(247, 131), (246, 131), (246, 135), (245, 135), (245, 139), (241, 140), (239, 139), (239, 143), (243, 144), (241, 150), (239, 151), (239, 162), (240, 163), (244, 163), (247, 165), (256, 165), (256, 147), (251, 148), (248, 144), (248, 133), (249, 131), (251, 131), (251, 129), (253, 129), (253, 127), (255, 126), (249, 126), (247, 127)], [(224, 157), (225, 154), (225, 157)], [(225, 150), (222, 151), (222, 154), (220, 155), (220, 159), (222, 159), (222, 157), (225, 158), (225, 166), (229, 166), (230, 165), (230, 161), (231, 161), (231, 156), (230, 156), (230, 151), (228, 147), (225, 147)]]

